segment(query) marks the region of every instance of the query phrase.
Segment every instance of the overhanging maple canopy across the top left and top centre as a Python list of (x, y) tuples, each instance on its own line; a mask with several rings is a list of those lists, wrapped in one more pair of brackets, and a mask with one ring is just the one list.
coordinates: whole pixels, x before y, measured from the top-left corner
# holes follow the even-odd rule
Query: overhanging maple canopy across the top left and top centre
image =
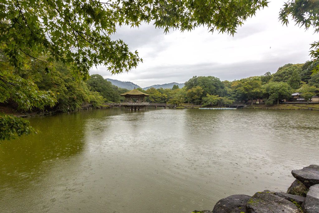
[(22, 67), (28, 56), (68, 63), (81, 77), (87, 77), (95, 65), (121, 73), (141, 59), (122, 40), (111, 39), (117, 25), (152, 22), (164, 32), (206, 26), (210, 32), (234, 35), (243, 21), (265, 6), (267, 0), (3, 0), (0, 42), (15, 67)]

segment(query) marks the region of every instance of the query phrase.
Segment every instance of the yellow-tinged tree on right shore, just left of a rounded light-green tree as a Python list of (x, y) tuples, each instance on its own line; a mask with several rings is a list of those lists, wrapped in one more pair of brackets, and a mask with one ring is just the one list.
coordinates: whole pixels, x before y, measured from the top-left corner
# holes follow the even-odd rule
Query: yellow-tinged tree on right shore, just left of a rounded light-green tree
[(263, 93), (261, 80), (250, 79), (244, 83), (241, 83), (236, 88), (236, 95), (241, 99), (250, 99), (253, 104), (253, 99), (260, 97)]

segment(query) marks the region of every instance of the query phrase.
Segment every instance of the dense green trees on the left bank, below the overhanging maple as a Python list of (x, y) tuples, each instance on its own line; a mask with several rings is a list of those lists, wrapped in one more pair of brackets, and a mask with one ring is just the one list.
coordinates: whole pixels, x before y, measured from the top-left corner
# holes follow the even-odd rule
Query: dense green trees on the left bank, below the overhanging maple
[[(5, 62), (4, 56), (2, 60)], [(128, 91), (112, 85), (100, 75), (91, 75), (88, 80), (81, 80), (72, 74), (70, 66), (57, 62), (52, 63), (50, 70), (46, 69), (43, 63), (38, 61), (35, 61), (35, 63), (29, 61), (23, 69), (17, 70), (12, 67), (10, 69), (14, 77), (21, 79), (22, 83), (24, 83), (24, 79), (32, 79), (32, 87), (35, 91), (47, 91), (48, 94), (46, 95), (54, 98), (51, 103), (42, 108), (36, 103), (39, 99), (30, 95), (28, 100), (34, 99), (34, 103), (30, 102), (32, 107), (30, 109), (25, 107), (25, 102), (19, 102), (16, 99), (13, 101), (12, 97), (10, 97), (11, 91), (4, 88), (3, 93), (0, 95), (0, 103), (2, 102), (2, 105), (17, 108), (20, 111), (54, 110), (66, 112), (79, 109), (86, 104), (100, 107), (106, 102), (120, 102), (122, 97), (119, 94)], [(15, 84), (17, 79), (11, 78), (11, 81)], [(22, 91), (21, 88), (17, 88), (16, 93), (28, 95), (28, 92), (26, 90)]]

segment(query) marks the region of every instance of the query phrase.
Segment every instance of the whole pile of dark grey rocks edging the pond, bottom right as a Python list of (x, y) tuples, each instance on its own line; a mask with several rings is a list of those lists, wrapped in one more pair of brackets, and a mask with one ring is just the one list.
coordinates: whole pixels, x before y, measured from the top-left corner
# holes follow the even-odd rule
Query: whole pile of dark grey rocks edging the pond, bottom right
[(193, 213), (319, 213), (319, 165), (291, 171), (287, 192), (265, 190), (253, 196), (236, 194), (219, 200), (213, 210)]

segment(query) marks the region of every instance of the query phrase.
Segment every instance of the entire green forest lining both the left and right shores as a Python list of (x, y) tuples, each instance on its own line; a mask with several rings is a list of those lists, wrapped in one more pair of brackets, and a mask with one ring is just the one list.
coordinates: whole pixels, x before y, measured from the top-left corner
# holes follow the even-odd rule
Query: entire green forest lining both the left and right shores
[[(2, 60), (5, 61), (5, 57)], [(225, 106), (234, 101), (247, 101), (263, 99), (266, 104), (276, 104), (282, 99), (289, 99), (293, 92), (302, 93), (306, 100), (319, 92), (319, 73), (312, 74), (316, 64), (306, 62), (304, 64), (286, 64), (279, 67), (277, 72), (266, 72), (262, 76), (252, 76), (234, 81), (220, 81), (214, 76), (194, 76), (185, 82), (185, 86), (179, 88), (174, 85), (172, 89), (154, 87), (138, 90), (149, 94), (148, 102), (170, 103), (178, 106), (183, 103), (196, 105)], [(13, 69), (11, 67), (11, 69)], [(36, 69), (37, 72), (33, 72)], [(101, 75), (91, 75), (87, 80), (81, 80), (72, 74), (71, 67), (54, 62), (48, 71), (41, 62), (29, 63), (23, 69), (14, 70), (15, 76), (23, 79), (32, 79), (33, 89), (47, 91), (54, 97), (54, 101), (47, 103), (44, 108), (30, 102), (32, 110), (71, 111), (81, 108), (83, 105), (101, 107), (106, 103), (121, 102), (124, 100), (120, 94), (128, 89), (119, 88)], [(25, 91), (18, 91), (18, 93)], [(15, 107), (21, 111), (27, 111), (24, 103), (10, 96), (1, 96), (2, 105)], [(41, 94), (43, 95), (43, 94)], [(6, 98), (8, 97), (8, 98)], [(32, 98), (29, 98), (32, 100)]]

